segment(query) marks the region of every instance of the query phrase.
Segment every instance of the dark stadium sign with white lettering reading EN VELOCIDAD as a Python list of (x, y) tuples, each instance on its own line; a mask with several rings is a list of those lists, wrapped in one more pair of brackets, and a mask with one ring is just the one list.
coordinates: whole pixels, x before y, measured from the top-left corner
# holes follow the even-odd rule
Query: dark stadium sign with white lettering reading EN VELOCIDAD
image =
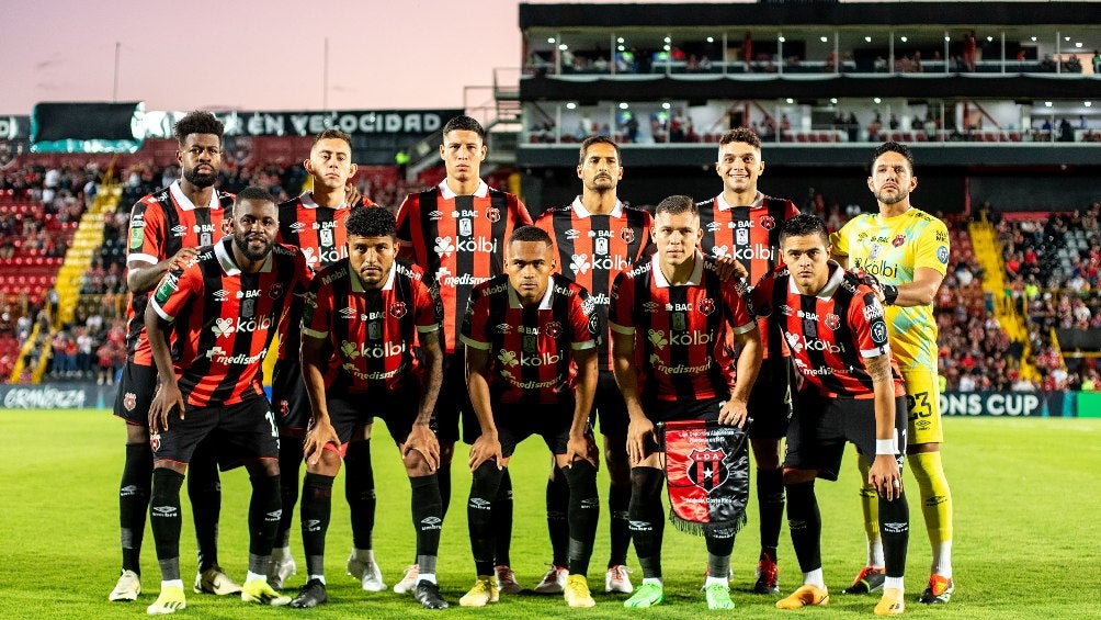
[[(145, 112), (146, 138), (172, 138), (173, 124), (186, 112)], [(226, 135), (315, 135), (339, 129), (352, 135), (427, 135), (439, 131), (460, 109), (446, 110), (335, 110), (215, 112), (226, 123)]]

